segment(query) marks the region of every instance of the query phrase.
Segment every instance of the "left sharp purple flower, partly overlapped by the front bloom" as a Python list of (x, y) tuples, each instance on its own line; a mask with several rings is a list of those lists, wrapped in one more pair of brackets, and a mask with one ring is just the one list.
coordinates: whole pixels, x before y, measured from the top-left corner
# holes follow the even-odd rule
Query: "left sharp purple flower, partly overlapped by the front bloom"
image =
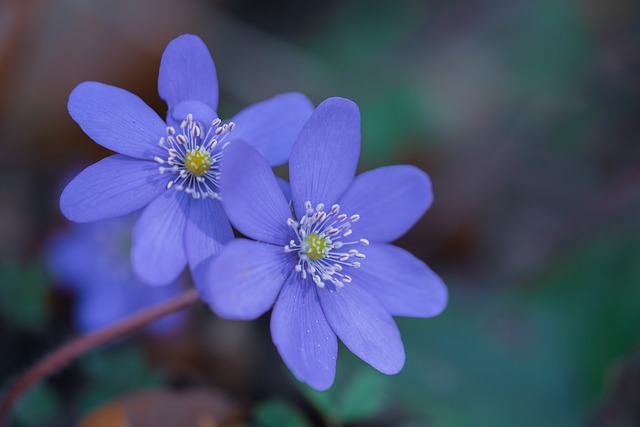
[(60, 208), (90, 222), (144, 209), (133, 231), (133, 267), (152, 285), (172, 282), (187, 262), (194, 268), (233, 238), (220, 205), (220, 165), (230, 138), (242, 139), (269, 164), (287, 161), (313, 106), (298, 93), (276, 96), (217, 117), (213, 60), (198, 37), (167, 46), (158, 91), (169, 107), (166, 123), (140, 98), (96, 82), (76, 87), (69, 113), (98, 144), (119, 154), (81, 172), (64, 190)]

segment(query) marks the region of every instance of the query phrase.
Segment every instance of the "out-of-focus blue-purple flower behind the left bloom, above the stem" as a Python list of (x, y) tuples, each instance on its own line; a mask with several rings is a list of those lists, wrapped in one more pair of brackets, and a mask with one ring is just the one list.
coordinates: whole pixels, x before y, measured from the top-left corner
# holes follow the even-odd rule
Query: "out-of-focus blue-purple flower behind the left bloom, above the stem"
[[(74, 320), (82, 332), (111, 325), (137, 311), (179, 294), (183, 281), (150, 287), (131, 269), (131, 229), (138, 215), (90, 224), (72, 224), (47, 247), (49, 269), (63, 289), (75, 296)], [(153, 323), (153, 332), (177, 328), (182, 313)]]

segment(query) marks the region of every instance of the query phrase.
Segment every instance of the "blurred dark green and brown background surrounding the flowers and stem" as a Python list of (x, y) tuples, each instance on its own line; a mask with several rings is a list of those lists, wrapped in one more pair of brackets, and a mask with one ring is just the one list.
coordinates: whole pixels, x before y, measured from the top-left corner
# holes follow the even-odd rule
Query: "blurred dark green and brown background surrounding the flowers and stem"
[(268, 315), (195, 306), (47, 378), (15, 425), (640, 425), (636, 0), (3, 0), (0, 387), (80, 333), (82, 299), (46, 253), (69, 228), (64, 183), (109, 152), (69, 92), (109, 83), (164, 116), (160, 56), (187, 32), (214, 58), (222, 117), (285, 91), (350, 98), (361, 170), (429, 173), (435, 203), (397, 243), (444, 278), (449, 307), (398, 319), (400, 374), (341, 347), (318, 393)]

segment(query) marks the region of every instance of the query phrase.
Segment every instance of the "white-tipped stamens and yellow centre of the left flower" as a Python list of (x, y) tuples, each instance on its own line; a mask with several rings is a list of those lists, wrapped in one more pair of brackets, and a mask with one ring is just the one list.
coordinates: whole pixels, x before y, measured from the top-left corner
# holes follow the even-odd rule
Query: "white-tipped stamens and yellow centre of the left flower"
[[(160, 138), (160, 147), (167, 150), (167, 158), (154, 157), (161, 166), (160, 173), (173, 173), (167, 188), (184, 190), (194, 199), (220, 198), (220, 162), (229, 145), (224, 140), (235, 129), (235, 123), (222, 124), (215, 119), (207, 132), (193, 120), (193, 115), (180, 124), (180, 132), (167, 127), (167, 137)], [(165, 166), (168, 165), (168, 166)]]

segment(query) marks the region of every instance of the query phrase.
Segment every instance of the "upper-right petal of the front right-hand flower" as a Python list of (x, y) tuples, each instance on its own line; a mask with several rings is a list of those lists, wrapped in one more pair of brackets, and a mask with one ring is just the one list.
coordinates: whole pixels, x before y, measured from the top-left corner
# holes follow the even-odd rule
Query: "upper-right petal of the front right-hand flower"
[(431, 206), (433, 193), (426, 173), (397, 165), (360, 174), (340, 198), (340, 211), (359, 214), (352, 238), (390, 242), (406, 233)]

